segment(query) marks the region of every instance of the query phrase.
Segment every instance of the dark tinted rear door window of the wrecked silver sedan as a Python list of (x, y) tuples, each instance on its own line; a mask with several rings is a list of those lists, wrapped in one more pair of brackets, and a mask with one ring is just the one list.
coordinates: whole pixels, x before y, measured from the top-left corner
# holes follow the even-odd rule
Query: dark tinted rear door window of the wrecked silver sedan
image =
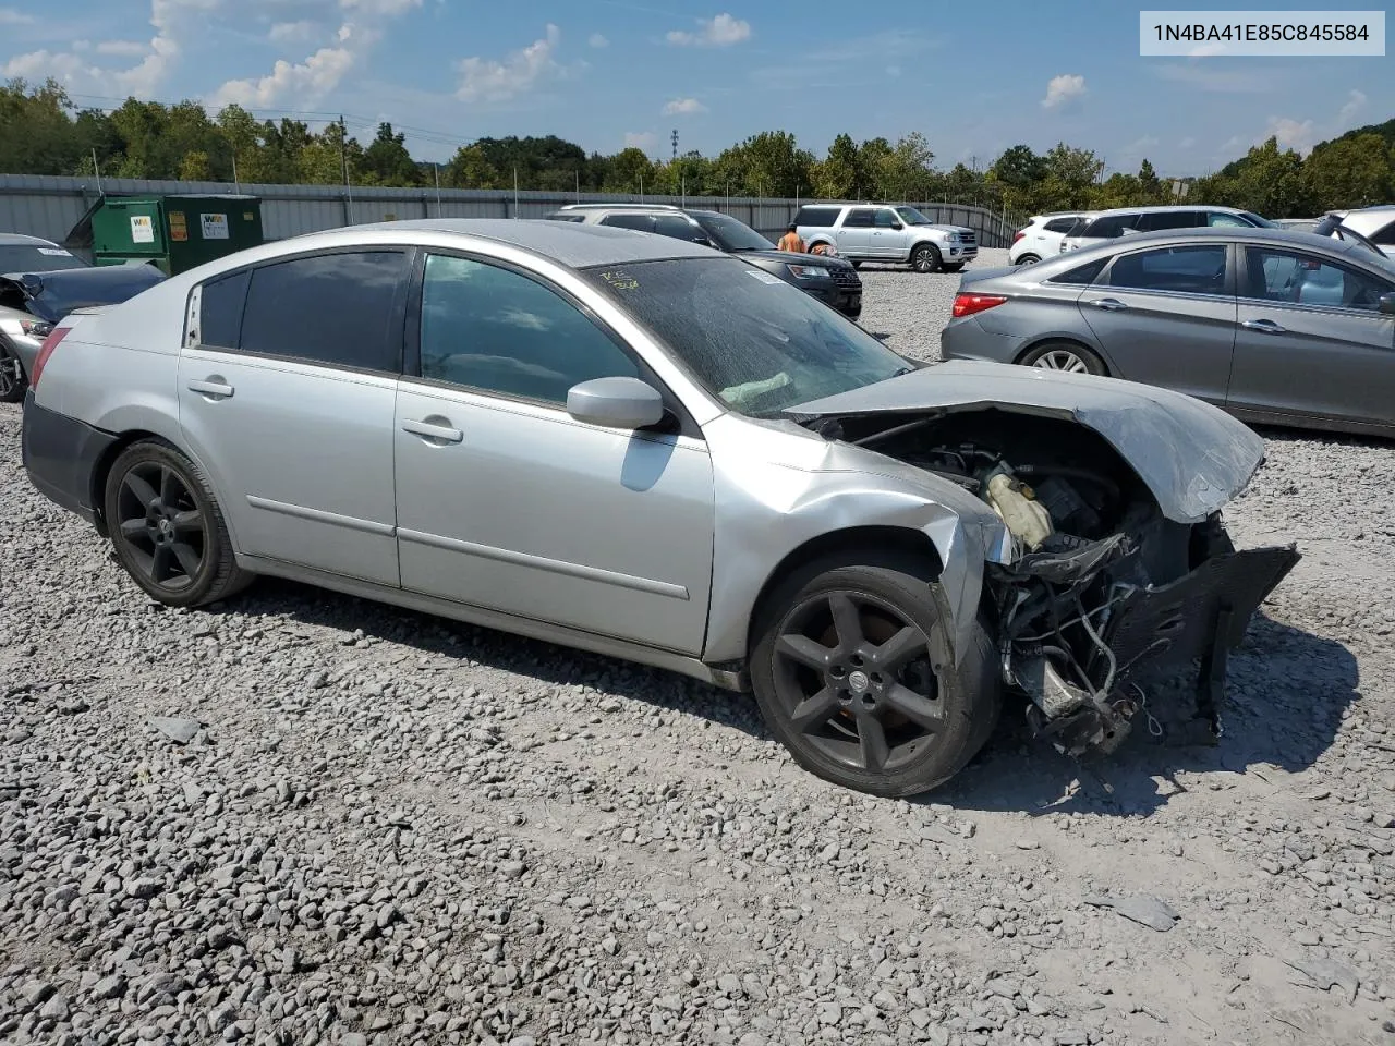
[(402, 251), (321, 254), (252, 269), (240, 347), (396, 374), (396, 304), (406, 275)]

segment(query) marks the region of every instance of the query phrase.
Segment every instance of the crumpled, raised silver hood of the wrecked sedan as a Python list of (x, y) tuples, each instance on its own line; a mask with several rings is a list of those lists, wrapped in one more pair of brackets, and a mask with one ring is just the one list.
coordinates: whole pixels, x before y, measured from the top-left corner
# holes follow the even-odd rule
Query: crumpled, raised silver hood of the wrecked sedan
[(951, 360), (852, 392), (801, 403), (812, 417), (1004, 410), (1070, 418), (1103, 437), (1162, 513), (1200, 523), (1244, 490), (1264, 441), (1225, 411), (1169, 389), (1119, 378)]

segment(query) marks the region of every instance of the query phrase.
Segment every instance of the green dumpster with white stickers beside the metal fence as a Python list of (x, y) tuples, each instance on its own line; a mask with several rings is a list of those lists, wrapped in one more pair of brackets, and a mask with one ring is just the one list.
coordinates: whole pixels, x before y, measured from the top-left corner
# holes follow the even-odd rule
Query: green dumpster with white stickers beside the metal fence
[(149, 261), (170, 276), (259, 243), (261, 199), (244, 195), (102, 197), (64, 241), (98, 265)]

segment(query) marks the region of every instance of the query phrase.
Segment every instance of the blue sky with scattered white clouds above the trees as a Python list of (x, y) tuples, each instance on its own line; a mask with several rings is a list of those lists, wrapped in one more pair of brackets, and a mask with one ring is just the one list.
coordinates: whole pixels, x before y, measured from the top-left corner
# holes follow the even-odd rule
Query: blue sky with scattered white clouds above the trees
[(508, 134), (658, 158), (674, 130), (707, 155), (919, 131), (942, 167), (1066, 141), (1183, 176), (1395, 116), (1389, 56), (1143, 59), (1138, 7), (1094, 0), (0, 0), (0, 66), (82, 106), (391, 121), (424, 160)]

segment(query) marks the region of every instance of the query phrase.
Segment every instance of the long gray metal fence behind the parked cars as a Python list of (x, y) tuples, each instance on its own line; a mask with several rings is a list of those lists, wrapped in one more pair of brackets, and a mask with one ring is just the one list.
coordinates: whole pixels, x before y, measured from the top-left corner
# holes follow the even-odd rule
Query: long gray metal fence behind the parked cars
[[(771, 238), (778, 237), (808, 199), (751, 197), (656, 197), (605, 192), (511, 192), (498, 190), (363, 188), (345, 185), (232, 185), (225, 181), (148, 181), (144, 179), (50, 177), (0, 174), (0, 232), (61, 241), (82, 213), (107, 195), (216, 195), (247, 192), (261, 197), (262, 230), (282, 240), (359, 222), (412, 218), (543, 218), (562, 204), (647, 202), (723, 211)], [(912, 204), (932, 222), (968, 226), (982, 247), (1006, 247), (1018, 216), (950, 202)]]

